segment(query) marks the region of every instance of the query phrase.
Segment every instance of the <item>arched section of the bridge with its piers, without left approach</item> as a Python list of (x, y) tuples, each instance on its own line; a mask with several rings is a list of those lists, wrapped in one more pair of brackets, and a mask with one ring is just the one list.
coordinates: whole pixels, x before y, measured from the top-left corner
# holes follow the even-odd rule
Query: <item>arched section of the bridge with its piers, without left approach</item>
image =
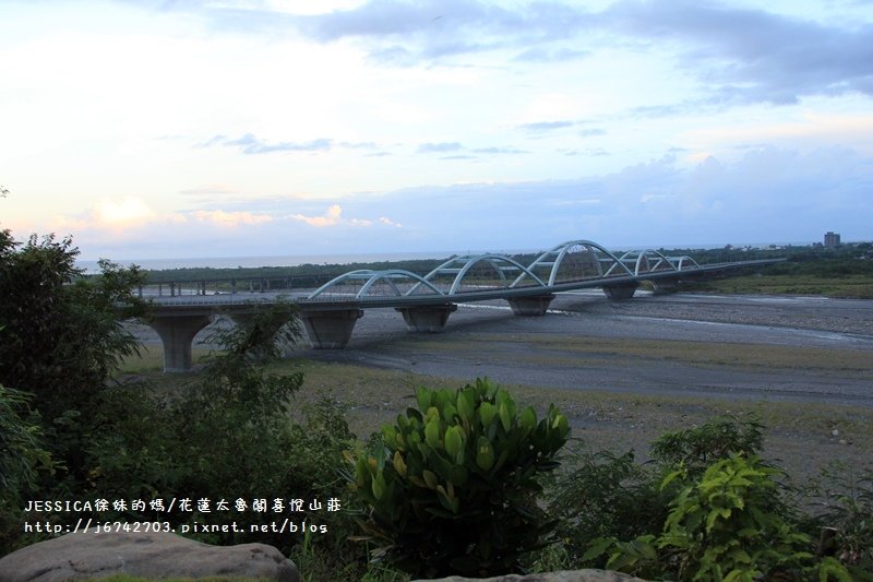
[(524, 265), (504, 254), (453, 257), (430, 273), (351, 271), (298, 301), (314, 347), (345, 347), (368, 307), (394, 307), (411, 331), (438, 332), (457, 304), (504, 299), (517, 316), (542, 316), (555, 293), (600, 287), (612, 300), (630, 299), (639, 283), (656, 292), (682, 281), (768, 261), (701, 265), (691, 257), (634, 250), (621, 257), (591, 240), (570, 240)]

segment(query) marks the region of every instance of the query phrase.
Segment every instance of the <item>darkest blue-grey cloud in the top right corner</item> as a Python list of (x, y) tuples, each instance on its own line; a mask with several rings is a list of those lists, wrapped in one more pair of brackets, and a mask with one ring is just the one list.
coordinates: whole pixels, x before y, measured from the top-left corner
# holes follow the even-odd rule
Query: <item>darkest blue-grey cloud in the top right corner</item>
[(808, 95), (873, 95), (873, 25), (840, 27), (730, 4), (622, 1), (602, 26), (677, 41), (680, 63), (713, 103), (797, 103)]

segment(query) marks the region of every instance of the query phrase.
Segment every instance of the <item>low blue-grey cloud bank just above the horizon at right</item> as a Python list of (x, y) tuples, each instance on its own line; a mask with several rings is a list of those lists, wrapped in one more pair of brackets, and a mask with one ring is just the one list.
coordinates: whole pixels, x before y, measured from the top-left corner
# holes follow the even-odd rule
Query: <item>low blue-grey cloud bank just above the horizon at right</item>
[(708, 156), (689, 166), (667, 155), (574, 180), (422, 187), (366, 207), (390, 210), (405, 237), (428, 241), (424, 249), (540, 248), (575, 238), (612, 248), (802, 242), (828, 229), (866, 236), (871, 188), (873, 158), (858, 152), (761, 147), (736, 162)]

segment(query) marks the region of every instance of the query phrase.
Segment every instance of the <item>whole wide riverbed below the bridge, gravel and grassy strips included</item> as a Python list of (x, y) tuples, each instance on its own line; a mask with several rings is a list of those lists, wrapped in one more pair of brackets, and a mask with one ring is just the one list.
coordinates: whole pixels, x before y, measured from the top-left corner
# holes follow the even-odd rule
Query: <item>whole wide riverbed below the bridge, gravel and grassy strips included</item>
[[(593, 450), (645, 459), (667, 430), (752, 413), (767, 427), (764, 455), (799, 483), (834, 461), (873, 467), (873, 301), (581, 293), (552, 307), (519, 318), (505, 304), (461, 306), (433, 335), (370, 310), (347, 349), (300, 356), (369, 426), (409, 405), (395, 382), (488, 376), (540, 408), (555, 403)], [(396, 376), (368, 390), (361, 366)]]

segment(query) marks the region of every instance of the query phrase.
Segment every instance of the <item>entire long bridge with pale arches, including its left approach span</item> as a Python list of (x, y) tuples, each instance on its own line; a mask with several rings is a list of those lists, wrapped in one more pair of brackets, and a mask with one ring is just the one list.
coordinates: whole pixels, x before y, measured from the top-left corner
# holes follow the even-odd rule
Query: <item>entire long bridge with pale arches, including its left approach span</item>
[[(395, 308), (414, 332), (440, 332), (458, 304), (506, 300), (513, 313), (543, 316), (555, 294), (599, 287), (611, 300), (634, 296), (642, 282), (666, 293), (684, 281), (725, 276), (750, 266), (784, 259), (737, 261), (701, 265), (690, 257), (667, 257), (646, 249), (618, 257), (590, 240), (572, 240), (539, 254), (524, 265), (504, 254), (452, 258), (426, 275), (390, 269), (344, 273), (307, 294), (287, 297), (299, 308), (314, 348), (342, 349), (368, 308)], [(142, 290), (141, 290), (142, 294)], [(237, 321), (251, 317), (259, 305), (278, 295), (206, 295), (206, 283), (194, 296), (157, 297), (148, 324), (164, 344), (164, 370), (192, 367), (191, 343), (215, 314)]]

